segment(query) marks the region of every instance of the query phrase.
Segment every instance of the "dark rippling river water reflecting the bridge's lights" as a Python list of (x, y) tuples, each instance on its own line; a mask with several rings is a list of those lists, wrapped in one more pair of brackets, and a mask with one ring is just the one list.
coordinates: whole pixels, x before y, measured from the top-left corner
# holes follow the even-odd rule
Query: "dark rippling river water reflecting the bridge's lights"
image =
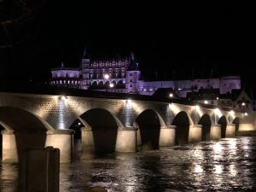
[[(3, 186), (16, 183), (16, 170), (0, 166)], [(61, 165), (61, 192), (84, 192), (94, 186), (127, 192), (256, 191), (256, 137), (108, 154)]]

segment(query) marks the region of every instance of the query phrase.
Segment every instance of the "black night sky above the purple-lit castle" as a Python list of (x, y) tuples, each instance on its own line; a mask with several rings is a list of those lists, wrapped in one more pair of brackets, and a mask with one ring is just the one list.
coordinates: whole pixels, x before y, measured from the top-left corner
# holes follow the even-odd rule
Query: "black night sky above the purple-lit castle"
[(99, 57), (133, 50), (145, 79), (155, 79), (156, 70), (158, 79), (190, 79), (192, 70), (195, 78), (208, 78), (213, 69), (214, 77), (241, 75), (248, 87), (256, 53), (253, 12), (252, 5), (223, 3), (46, 1), (22, 28), (25, 43), (0, 48), (0, 75), (48, 79), (61, 61), (78, 67), (86, 46)]

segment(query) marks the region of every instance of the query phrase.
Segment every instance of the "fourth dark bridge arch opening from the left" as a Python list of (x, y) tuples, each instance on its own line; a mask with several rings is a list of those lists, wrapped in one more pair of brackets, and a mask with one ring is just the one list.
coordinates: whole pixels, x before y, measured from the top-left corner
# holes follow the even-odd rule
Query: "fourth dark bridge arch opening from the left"
[(189, 126), (193, 125), (193, 122), (189, 119), (188, 113), (185, 111), (177, 113), (172, 125), (176, 126), (175, 143), (178, 145), (189, 143)]

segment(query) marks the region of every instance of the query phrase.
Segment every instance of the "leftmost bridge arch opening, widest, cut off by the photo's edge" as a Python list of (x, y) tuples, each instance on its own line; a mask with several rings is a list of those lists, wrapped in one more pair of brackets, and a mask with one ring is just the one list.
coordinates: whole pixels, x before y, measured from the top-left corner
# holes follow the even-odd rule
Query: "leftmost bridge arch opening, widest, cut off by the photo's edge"
[[(4, 140), (3, 148), (11, 147), (16, 150), (16, 152), (13, 151), (16, 153), (12, 159), (14, 161), (20, 160), (24, 155), (23, 150), (26, 148), (44, 148), (47, 131), (53, 130), (38, 115), (25, 109), (13, 107), (0, 107), (0, 125), (6, 130), (3, 132), (3, 137), (9, 137), (9, 139)], [(11, 150), (5, 152), (12, 153)], [(7, 159), (3, 161), (9, 161), (9, 154), (4, 156), (3, 158)]]

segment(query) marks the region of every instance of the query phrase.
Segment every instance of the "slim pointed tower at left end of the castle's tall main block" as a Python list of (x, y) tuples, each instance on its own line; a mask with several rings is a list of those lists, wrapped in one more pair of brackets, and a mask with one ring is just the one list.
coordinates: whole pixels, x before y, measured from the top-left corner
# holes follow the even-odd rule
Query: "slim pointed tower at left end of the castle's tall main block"
[(81, 88), (88, 90), (90, 87), (90, 59), (86, 58), (86, 48), (81, 62), (83, 81), (81, 82)]

